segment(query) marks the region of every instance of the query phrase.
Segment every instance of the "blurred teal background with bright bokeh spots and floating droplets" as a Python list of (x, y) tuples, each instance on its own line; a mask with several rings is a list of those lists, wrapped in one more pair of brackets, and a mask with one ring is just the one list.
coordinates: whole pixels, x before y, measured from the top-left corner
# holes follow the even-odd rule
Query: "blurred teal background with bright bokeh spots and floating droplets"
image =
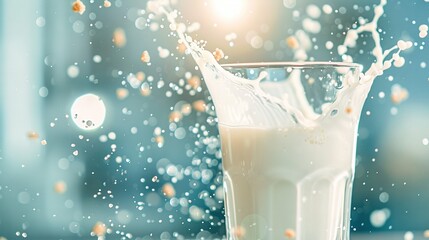
[[(0, 0), (0, 239), (221, 238), (216, 116), (195, 63), (145, 0), (82, 0), (82, 14), (73, 3)], [(339, 61), (344, 32), (378, 1), (170, 4), (235, 63), (292, 61), (302, 35), (307, 60)], [(414, 47), (362, 112), (356, 234), (429, 229), (428, 12), (388, 1), (379, 21), (385, 49)], [(351, 50), (365, 68), (370, 37)]]

